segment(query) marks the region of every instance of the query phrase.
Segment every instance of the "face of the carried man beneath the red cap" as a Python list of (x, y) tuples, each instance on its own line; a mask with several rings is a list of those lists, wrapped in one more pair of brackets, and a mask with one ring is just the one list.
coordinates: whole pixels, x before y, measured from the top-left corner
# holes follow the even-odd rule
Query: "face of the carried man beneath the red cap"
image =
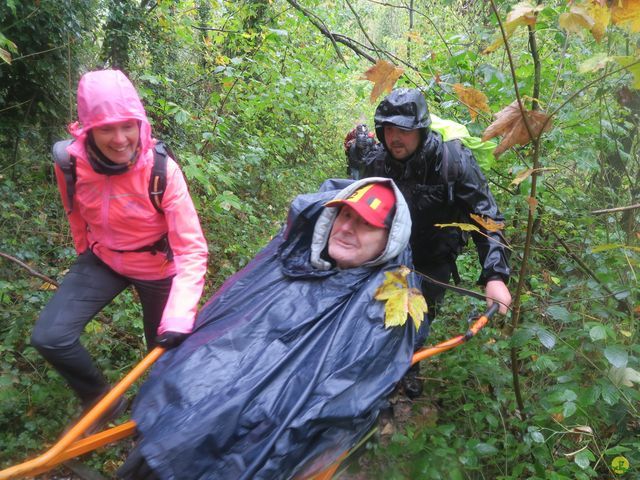
[(387, 245), (389, 231), (374, 227), (345, 205), (329, 234), (329, 256), (338, 268), (352, 268), (377, 258)]

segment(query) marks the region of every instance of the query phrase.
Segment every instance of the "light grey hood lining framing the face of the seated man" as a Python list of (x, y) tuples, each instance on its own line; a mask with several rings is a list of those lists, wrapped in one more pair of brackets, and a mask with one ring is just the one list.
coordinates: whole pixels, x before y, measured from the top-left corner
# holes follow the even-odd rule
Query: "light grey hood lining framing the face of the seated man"
[[(409, 207), (407, 206), (407, 202), (402, 196), (402, 193), (396, 184), (393, 183), (393, 180), (381, 177), (363, 178), (362, 180), (353, 182), (346, 188), (340, 190), (332, 200), (349, 198), (356, 190), (365, 185), (369, 185), (370, 183), (386, 183), (391, 186), (396, 196), (396, 213), (393, 217), (391, 228), (389, 229), (387, 246), (379, 257), (362, 264), (362, 267), (380, 265), (396, 258), (406, 249), (411, 235), (411, 217), (409, 214)], [(321, 258), (321, 254), (327, 246), (331, 228), (333, 227), (339, 211), (340, 207), (326, 207), (316, 221), (311, 241), (311, 265), (319, 270), (329, 270), (332, 268), (330, 262)]]

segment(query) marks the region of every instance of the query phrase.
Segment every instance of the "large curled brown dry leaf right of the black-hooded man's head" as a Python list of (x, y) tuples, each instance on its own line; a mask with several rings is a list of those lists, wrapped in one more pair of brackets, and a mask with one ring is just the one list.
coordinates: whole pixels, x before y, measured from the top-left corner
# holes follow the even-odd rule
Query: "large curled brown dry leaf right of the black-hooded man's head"
[[(537, 137), (543, 131), (551, 129), (551, 120), (547, 121), (549, 117), (540, 110), (525, 110), (524, 113), (534, 136)], [(493, 152), (496, 157), (514, 145), (526, 145), (531, 141), (517, 100), (496, 113), (495, 117), (496, 120), (484, 131), (482, 140), (487, 141), (502, 135), (502, 141)]]

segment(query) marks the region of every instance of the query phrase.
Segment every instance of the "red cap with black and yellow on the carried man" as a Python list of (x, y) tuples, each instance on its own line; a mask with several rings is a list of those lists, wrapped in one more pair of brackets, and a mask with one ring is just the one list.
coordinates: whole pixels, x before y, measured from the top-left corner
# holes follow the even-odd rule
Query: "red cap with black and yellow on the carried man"
[(388, 183), (370, 183), (359, 188), (349, 198), (331, 200), (326, 207), (348, 205), (374, 227), (389, 228), (393, 220), (396, 196)]

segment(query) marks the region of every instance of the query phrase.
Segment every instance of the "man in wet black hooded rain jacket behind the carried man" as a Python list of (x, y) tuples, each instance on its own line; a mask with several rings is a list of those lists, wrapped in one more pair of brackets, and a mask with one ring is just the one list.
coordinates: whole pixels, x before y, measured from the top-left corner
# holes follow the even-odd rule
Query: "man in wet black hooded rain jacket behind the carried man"
[[(435, 225), (476, 223), (469, 214), (504, 221), (473, 153), (460, 140), (444, 141), (429, 128), (429, 110), (418, 89), (393, 90), (378, 105), (374, 120), (381, 143), (365, 154), (364, 177), (393, 179), (407, 200), (416, 269), (440, 282), (452, 275), (457, 281), (455, 261), (467, 236), (459, 228)], [(471, 234), (482, 266), (478, 284), (485, 287), (487, 304), (497, 301), (505, 314), (511, 303), (506, 241), (500, 232), (476, 225), (486, 235)], [(423, 281), (422, 289), (433, 319), (444, 288)]]

